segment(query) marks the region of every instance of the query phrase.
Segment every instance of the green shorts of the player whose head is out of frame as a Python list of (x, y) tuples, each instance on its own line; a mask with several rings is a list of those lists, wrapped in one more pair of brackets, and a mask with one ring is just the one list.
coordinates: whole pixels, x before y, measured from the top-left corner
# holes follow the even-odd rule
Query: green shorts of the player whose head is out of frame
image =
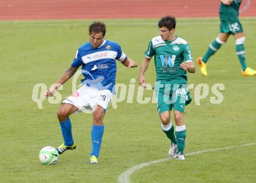
[(219, 13), (219, 19), (221, 20), (219, 32), (226, 34), (237, 34), (239, 32), (243, 32), (243, 27), (238, 15)]

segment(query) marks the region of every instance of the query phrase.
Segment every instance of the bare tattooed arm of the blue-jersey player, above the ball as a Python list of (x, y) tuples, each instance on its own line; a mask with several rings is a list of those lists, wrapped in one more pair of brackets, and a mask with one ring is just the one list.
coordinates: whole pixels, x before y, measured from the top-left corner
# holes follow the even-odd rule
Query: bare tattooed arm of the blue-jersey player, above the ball
[(77, 71), (77, 67), (70, 66), (61, 76), (61, 78), (56, 82), (56, 85), (49, 88), (45, 93), (45, 97), (51, 97), (58, 88), (63, 85), (67, 80), (69, 80)]

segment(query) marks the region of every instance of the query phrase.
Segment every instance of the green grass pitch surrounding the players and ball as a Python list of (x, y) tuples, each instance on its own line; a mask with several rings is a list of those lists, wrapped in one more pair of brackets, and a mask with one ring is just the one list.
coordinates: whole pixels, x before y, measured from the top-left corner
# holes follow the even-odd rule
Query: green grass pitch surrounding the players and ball
[[(118, 42), (123, 51), (141, 63), (148, 41), (158, 35), (157, 19), (106, 20), (106, 39)], [(246, 35), (247, 64), (256, 69), (256, 19), (241, 19)], [(128, 87), (136, 78), (134, 102), (109, 107), (99, 157), (91, 166), (91, 114), (71, 116), (77, 149), (59, 157), (55, 166), (44, 166), (38, 153), (42, 147), (62, 143), (56, 112), (61, 104), (43, 102), (43, 109), (31, 99), (36, 83), (49, 86), (69, 67), (76, 49), (88, 41), (89, 20), (1, 21), (1, 113), (0, 182), (118, 182), (121, 173), (137, 164), (168, 156), (169, 141), (162, 133), (156, 105), (136, 101), (139, 68), (118, 64), (117, 83)], [(218, 19), (177, 19), (176, 35), (190, 43), (194, 60), (202, 56), (218, 35)], [(154, 62), (145, 74), (155, 80)], [(256, 142), (256, 77), (241, 76), (234, 38), (209, 60), (208, 76), (197, 66), (189, 83), (207, 83), (209, 94), (186, 107), (186, 153)], [(223, 83), (223, 102), (211, 104), (214, 83)], [(194, 90), (190, 90), (194, 98)], [(60, 92), (72, 93), (71, 80)], [(151, 97), (152, 90), (144, 92)], [(173, 113), (172, 121), (173, 121)], [(187, 156), (184, 162), (167, 160), (130, 175), (130, 182), (254, 182), (256, 146)]]

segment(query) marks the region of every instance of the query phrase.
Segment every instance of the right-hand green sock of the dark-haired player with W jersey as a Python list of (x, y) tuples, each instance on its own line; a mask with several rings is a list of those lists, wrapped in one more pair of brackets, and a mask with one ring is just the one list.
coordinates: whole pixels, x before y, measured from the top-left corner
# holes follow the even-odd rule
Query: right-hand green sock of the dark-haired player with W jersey
[(177, 153), (181, 152), (184, 155), (185, 140), (186, 140), (186, 125), (176, 126), (177, 137)]

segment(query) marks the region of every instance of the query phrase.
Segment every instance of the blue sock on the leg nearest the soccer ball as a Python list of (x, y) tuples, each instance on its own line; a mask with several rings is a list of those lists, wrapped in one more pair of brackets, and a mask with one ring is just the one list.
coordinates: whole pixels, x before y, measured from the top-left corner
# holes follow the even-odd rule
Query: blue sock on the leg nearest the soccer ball
[(72, 137), (72, 127), (69, 117), (65, 120), (65, 122), (59, 122), (61, 125), (62, 136), (64, 139), (64, 145), (72, 146), (74, 144), (74, 140)]

